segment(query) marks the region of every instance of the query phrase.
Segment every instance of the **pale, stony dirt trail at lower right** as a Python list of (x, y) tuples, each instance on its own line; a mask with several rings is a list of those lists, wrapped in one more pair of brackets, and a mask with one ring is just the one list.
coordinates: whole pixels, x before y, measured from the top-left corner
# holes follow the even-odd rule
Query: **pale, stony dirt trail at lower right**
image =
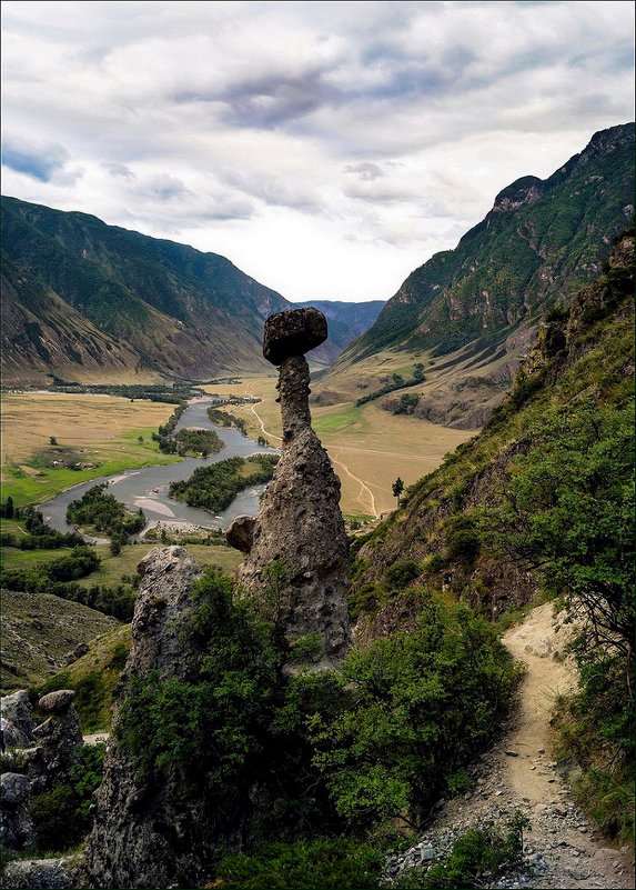
[(555, 619), (552, 604), (546, 603), (504, 636), (513, 657), (527, 666), (514, 717), (497, 743), (471, 769), (473, 789), (444, 802), (422, 843), (393, 864), (393, 873), (417, 864), (425, 858), (424, 851), (446, 852), (454, 837), (468, 828), (491, 820), (505, 823), (521, 810), (532, 821), (524, 846), (526, 871), (487, 886), (536, 890), (634, 887), (633, 852), (610, 847), (595, 832), (551, 756), (555, 698), (576, 687), (572, 657), (563, 657), (568, 632), (568, 626)]

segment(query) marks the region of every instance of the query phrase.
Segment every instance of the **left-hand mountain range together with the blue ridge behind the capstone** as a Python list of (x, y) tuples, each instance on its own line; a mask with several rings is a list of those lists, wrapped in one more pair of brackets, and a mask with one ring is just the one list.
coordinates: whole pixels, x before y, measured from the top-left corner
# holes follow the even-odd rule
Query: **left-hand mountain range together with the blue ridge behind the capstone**
[[(380, 309), (321, 307), (330, 340), (312, 358), (323, 364)], [(200, 380), (270, 368), (264, 321), (293, 308), (224, 257), (2, 198), (6, 383), (43, 381), (52, 371), (72, 380)]]

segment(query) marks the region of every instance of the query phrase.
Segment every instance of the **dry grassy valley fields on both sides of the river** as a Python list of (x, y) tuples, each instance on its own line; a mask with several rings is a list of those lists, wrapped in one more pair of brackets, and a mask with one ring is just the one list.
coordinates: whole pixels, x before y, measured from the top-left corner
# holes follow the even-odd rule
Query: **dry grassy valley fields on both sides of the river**
[[(405, 366), (403, 356), (382, 361), (376, 372), (412, 373), (413, 366)], [(230, 406), (228, 410), (244, 418), (253, 439), (264, 436), (270, 444), (279, 446), (276, 379), (272, 370), (206, 390), (213, 396), (259, 397), (262, 401), (258, 404)], [(373, 391), (373, 380), (360, 377), (357, 391)], [(10, 494), (17, 506), (41, 502), (84, 480), (176, 459), (162, 454), (151, 439), (172, 413), (171, 406), (104, 396), (9, 393), (2, 397), (2, 497)], [(412, 484), (475, 432), (394, 416), (375, 402), (361, 408), (352, 401), (312, 406), (312, 418), (342, 482), (342, 510), (357, 518), (393, 510), (392, 484), (397, 477)], [(57, 447), (50, 444), (51, 436)], [(81, 470), (53, 467), (55, 448), (74, 451), (78, 462), (97, 466)]]

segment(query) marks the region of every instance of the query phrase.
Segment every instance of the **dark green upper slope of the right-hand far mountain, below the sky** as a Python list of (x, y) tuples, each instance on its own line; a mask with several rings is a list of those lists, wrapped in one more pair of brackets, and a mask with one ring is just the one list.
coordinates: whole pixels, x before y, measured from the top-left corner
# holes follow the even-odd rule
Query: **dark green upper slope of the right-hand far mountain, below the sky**
[(613, 127), (547, 180), (504, 189), (455, 250), (406, 279), (343, 359), (387, 346), (443, 356), (489, 332), (503, 342), (519, 321), (589, 283), (607, 236), (634, 212), (633, 156), (634, 124)]

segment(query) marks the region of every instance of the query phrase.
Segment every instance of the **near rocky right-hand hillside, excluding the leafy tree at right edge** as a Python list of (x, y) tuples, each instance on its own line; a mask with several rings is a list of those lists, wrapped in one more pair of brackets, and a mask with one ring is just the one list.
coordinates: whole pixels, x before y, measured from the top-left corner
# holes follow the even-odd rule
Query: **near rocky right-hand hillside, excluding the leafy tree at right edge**
[[(482, 432), (412, 486), (400, 509), (380, 523), (360, 549), (356, 609), (376, 616), (372, 632), (400, 614), (393, 602), (380, 608), (386, 601), (387, 572), (400, 563), (408, 563), (405, 584), (420, 578), (437, 589), (452, 590), (492, 617), (535, 594), (538, 576), (531, 570), (532, 554), (528, 551), (524, 557), (509, 548), (502, 557), (497, 544), (505, 538), (504, 531), (499, 541), (493, 531), (511, 517), (519, 529), (525, 528), (527, 516), (515, 480), (524, 478), (523, 461), (548, 453), (559, 436), (569, 442), (573, 453), (581, 450), (585, 463), (593, 442), (579, 442), (578, 438), (589, 428), (593, 439), (602, 439), (602, 424), (607, 423), (605, 438), (610, 441), (614, 437), (618, 451), (625, 439), (623, 459), (629, 480), (630, 440), (622, 430), (624, 424), (633, 424), (633, 232), (618, 239), (606, 269), (595, 284), (576, 294), (568, 309), (553, 310), (544, 318), (512, 392)], [(545, 470), (543, 477), (539, 473), (543, 482), (534, 480), (537, 490), (547, 486), (548, 476)], [(529, 481), (526, 484), (529, 487)], [(581, 500), (586, 497), (581, 494)], [(597, 519), (600, 522), (600, 517)], [(571, 523), (574, 528), (574, 513)], [(363, 543), (363, 539), (359, 541)], [(629, 549), (626, 544), (627, 554)]]

